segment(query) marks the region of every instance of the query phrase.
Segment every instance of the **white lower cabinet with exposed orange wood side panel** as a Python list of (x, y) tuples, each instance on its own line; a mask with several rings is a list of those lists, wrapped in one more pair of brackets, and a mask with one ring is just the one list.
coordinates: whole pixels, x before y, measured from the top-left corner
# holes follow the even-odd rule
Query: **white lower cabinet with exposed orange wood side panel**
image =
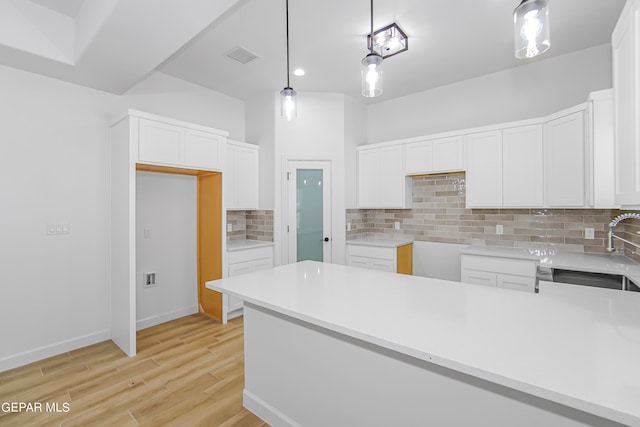
[(347, 244), (347, 265), (413, 274), (413, 244), (398, 247)]

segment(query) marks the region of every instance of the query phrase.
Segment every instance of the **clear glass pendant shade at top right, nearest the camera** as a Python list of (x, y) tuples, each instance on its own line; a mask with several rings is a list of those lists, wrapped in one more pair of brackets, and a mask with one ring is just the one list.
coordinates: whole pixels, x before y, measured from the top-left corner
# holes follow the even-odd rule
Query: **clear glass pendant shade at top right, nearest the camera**
[(522, 0), (513, 11), (516, 58), (546, 52), (549, 41), (549, 0)]

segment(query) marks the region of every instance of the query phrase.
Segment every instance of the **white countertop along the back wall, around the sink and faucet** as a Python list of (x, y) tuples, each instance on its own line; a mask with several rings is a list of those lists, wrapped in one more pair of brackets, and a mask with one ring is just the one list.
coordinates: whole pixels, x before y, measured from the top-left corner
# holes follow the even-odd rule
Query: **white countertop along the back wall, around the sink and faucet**
[(640, 279), (640, 264), (618, 254), (586, 254), (544, 249), (494, 248), (469, 246), (460, 251), (466, 255), (495, 256), (501, 258), (530, 259), (543, 267), (567, 270), (592, 271), (596, 273), (620, 274), (637, 282)]

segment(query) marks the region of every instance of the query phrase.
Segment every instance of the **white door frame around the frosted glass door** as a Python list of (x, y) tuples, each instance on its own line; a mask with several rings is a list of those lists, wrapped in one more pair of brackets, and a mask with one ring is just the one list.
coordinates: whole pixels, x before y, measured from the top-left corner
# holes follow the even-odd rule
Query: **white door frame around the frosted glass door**
[[(289, 233), (287, 232), (287, 224), (289, 220), (289, 181), (287, 181), (287, 172), (289, 171), (289, 162), (328, 162), (331, 188), (331, 236), (329, 236), (331, 245), (331, 260), (329, 262), (335, 263), (339, 254), (337, 243), (343, 241), (343, 239), (336, 238), (339, 224), (336, 218), (336, 208), (339, 206), (336, 204), (337, 200), (337, 183), (338, 183), (338, 161), (335, 156), (323, 155), (323, 154), (283, 154), (281, 163), (281, 200), (280, 200), (280, 242), (281, 242), (281, 264), (289, 263)], [(342, 194), (342, 193), (340, 193)], [(340, 204), (342, 206), (342, 204)]]

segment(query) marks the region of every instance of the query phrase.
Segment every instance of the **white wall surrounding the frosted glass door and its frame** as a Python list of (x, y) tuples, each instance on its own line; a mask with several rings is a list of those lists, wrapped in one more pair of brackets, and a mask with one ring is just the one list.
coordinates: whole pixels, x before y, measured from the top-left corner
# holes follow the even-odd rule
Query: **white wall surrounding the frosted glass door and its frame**
[[(282, 209), (283, 158), (296, 160), (332, 159), (332, 258), (344, 263), (345, 210), (344, 210), (344, 138), (345, 96), (335, 93), (302, 92), (298, 94), (298, 117), (287, 122), (280, 118), (280, 96), (273, 98), (275, 117), (275, 209), (274, 244), (275, 263), (286, 263), (284, 245), (286, 228)], [(276, 108), (277, 106), (277, 108)]]

